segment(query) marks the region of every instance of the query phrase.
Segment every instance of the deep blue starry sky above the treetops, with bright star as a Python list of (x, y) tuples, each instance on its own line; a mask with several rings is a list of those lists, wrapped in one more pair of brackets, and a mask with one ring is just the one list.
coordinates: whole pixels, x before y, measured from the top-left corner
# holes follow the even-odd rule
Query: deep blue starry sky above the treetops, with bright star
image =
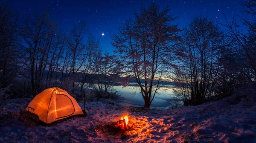
[[(134, 10), (148, 5), (152, 0), (7, 0), (9, 6), (20, 13), (20, 17), (32, 11), (48, 9), (61, 29), (71, 30), (82, 20), (87, 21), (90, 32), (100, 38), (104, 51), (112, 53), (111, 33), (125, 19), (133, 18)], [(154, 0), (161, 8), (169, 6), (170, 14), (179, 16), (176, 23), (183, 28), (196, 14), (213, 17), (217, 22), (225, 23), (222, 11), (228, 20), (233, 16), (244, 16), (240, 2), (245, 0)], [(175, 23), (175, 24), (176, 24)], [(104, 36), (102, 36), (104, 33)]]

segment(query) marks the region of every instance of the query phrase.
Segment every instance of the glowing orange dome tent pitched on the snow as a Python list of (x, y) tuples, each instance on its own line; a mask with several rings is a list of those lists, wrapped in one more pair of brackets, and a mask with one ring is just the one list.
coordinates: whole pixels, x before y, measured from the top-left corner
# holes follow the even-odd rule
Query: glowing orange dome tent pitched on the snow
[(29, 103), (44, 123), (52, 123), (73, 115), (84, 115), (76, 99), (58, 87), (48, 88)]

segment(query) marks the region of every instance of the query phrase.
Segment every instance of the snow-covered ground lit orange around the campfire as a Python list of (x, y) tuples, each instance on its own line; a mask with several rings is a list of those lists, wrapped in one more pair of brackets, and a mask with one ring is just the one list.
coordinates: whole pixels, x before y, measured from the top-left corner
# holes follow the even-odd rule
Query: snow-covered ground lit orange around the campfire
[[(167, 110), (100, 100), (87, 103), (86, 118), (76, 117), (48, 127), (28, 127), (20, 122), (13, 109), (20, 102), (28, 104), (29, 99), (19, 99), (8, 109), (0, 110), (0, 142), (256, 143), (255, 96), (248, 102), (246, 99), (235, 95), (200, 106)], [(122, 134), (110, 132), (106, 125), (127, 112), (130, 130)]]

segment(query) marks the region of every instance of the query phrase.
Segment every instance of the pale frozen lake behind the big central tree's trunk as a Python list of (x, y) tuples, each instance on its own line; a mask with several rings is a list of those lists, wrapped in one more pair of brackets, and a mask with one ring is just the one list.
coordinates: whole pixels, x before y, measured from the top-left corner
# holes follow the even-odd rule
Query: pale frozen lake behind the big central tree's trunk
[[(113, 88), (121, 95), (120, 99), (114, 100), (116, 103), (134, 107), (144, 106), (144, 99), (140, 93), (140, 87), (113, 86)], [(170, 105), (169, 100), (173, 96), (173, 88), (174, 85), (164, 85), (164, 87), (160, 87), (151, 103), (151, 107), (168, 107)]]

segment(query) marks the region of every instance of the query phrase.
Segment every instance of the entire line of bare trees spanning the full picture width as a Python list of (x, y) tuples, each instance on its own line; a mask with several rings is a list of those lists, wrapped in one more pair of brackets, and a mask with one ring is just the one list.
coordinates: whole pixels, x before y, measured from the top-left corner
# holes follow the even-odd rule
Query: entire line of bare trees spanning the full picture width
[[(84, 100), (117, 98), (112, 89), (121, 82), (117, 79), (136, 80), (145, 107), (166, 81), (175, 83), (174, 100), (184, 105), (227, 97), (247, 84), (256, 86), (256, 2), (241, 6), (253, 17), (239, 17), (242, 25), (235, 17), (217, 23), (196, 15), (185, 28), (173, 24), (178, 17), (169, 15), (168, 7), (143, 6), (112, 35), (111, 56), (102, 52), (86, 21), (65, 31), (48, 11), (20, 18), (1, 3), (0, 103), (35, 97), (49, 87)], [(86, 90), (86, 83), (92, 83), (92, 90)]]

